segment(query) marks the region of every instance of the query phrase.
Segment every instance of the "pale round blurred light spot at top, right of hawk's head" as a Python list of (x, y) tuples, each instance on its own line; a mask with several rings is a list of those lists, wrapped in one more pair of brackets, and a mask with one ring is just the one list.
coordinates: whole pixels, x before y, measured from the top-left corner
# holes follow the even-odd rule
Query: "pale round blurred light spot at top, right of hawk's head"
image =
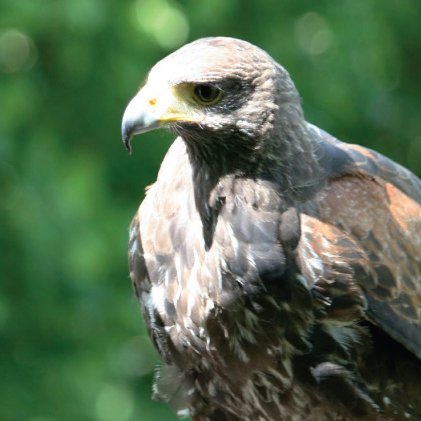
[(305, 13), (295, 24), (295, 39), (300, 48), (311, 55), (321, 54), (332, 45), (333, 34), (318, 13)]

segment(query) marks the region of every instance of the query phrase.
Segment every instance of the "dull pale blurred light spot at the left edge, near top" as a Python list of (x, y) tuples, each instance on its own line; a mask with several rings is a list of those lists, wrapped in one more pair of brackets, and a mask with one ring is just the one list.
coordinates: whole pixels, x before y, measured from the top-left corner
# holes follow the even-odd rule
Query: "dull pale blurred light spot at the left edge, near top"
[(36, 58), (36, 47), (29, 36), (17, 29), (0, 34), (0, 71), (15, 73), (29, 70)]

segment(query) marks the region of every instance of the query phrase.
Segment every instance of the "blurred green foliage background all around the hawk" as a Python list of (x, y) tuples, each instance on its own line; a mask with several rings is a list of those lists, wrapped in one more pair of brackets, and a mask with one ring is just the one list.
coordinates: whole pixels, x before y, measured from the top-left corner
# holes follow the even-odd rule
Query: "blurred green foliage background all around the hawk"
[(289, 69), (307, 119), (421, 175), (419, 0), (1, 0), (0, 419), (169, 421), (127, 227), (171, 136), (123, 110), (181, 44), (230, 35)]

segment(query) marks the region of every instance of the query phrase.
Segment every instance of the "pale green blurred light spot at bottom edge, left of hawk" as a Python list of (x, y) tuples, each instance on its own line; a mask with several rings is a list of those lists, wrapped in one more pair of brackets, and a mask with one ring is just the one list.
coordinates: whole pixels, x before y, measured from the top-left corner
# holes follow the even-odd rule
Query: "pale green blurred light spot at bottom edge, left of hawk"
[(99, 421), (128, 421), (134, 409), (135, 400), (126, 388), (107, 384), (95, 402), (95, 418)]

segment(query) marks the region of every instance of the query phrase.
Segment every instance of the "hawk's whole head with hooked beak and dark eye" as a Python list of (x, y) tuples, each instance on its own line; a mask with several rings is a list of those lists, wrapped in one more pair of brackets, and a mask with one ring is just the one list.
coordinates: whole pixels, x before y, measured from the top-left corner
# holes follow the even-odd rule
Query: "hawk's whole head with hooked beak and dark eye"
[(299, 96), (283, 67), (250, 43), (210, 37), (151, 69), (126, 108), (122, 136), (130, 151), (133, 135), (166, 127), (195, 150), (255, 154), (274, 128), (289, 131), (301, 121)]

